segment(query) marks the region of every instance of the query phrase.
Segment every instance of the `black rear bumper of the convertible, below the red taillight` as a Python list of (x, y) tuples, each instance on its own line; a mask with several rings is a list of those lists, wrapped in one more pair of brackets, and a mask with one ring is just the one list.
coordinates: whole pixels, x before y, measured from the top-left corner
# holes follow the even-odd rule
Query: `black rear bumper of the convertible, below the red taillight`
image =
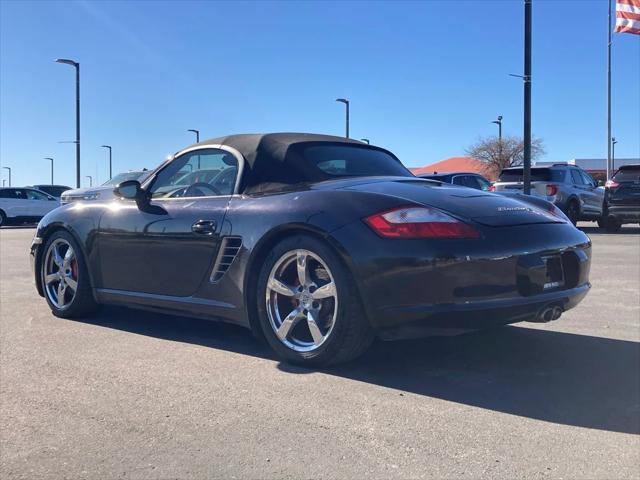
[[(569, 224), (484, 228), (483, 239), (437, 241), (381, 239), (367, 228), (334, 234), (382, 336), (406, 336), (417, 325), (455, 331), (536, 320), (547, 306), (574, 307), (590, 288), (591, 242)], [(559, 266), (560, 278), (551, 278)]]

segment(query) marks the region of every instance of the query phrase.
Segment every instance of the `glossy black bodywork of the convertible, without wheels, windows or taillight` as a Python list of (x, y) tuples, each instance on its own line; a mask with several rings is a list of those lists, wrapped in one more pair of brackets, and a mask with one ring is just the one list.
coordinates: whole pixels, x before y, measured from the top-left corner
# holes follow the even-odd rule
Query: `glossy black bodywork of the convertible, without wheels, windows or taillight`
[[(313, 169), (292, 175), (305, 167), (300, 158), (290, 164), (286, 152), (323, 142), (386, 152), (308, 134), (203, 142), (195, 148), (225, 145), (246, 160), (236, 192), (150, 198), (144, 207), (122, 199), (63, 206), (38, 226), (31, 250), (35, 271), (40, 246), (63, 228), (81, 246), (99, 302), (252, 327), (262, 259), (279, 240), (304, 232), (338, 253), (371, 325), (385, 338), (417, 334), (416, 323), (455, 330), (534, 320), (549, 305), (572, 308), (589, 289), (590, 241), (545, 210), (546, 203), (421, 180), (404, 167), (397, 169), (407, 172), (400, 176), (331, 178)], [(193, 148), (176, 154), (176, 161)], [(145, 191), (171, 161), (150, 175)], [(270, 181), (261, 183), (269, 165)], [(446, 212), (472, 225), (480, 238), (388, 239), (363, 222), (405, 205)], [(195, 230), (202, 222), (210, 227), (204, 234)], [(548, 262), (562, 265), (562, 278), (549, 278)], [(35, 280), (42, 294), (37, 273)]]

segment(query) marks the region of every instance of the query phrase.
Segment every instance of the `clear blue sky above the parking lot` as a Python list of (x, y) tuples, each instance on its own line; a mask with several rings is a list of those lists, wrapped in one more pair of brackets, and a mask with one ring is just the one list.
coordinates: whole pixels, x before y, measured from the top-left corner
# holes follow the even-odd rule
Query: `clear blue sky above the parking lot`
[[(534, 0), (533, 133), (547, 160), (606, 156), (606, 0)], [(408, 166), (522, 134), (521, 0), (213, 2), (0, 0), (0, 159), (13, 184), (152, 168), (228, 133), (351, 134)], [(640, 156), (640, 38), (614, 37), (616, 157)], [(114, 172), (115, 173), (115, 172)], [(2, 171), (6, 178), (6, 170)], [(88, 180), (83, 178), (83, 184)]]

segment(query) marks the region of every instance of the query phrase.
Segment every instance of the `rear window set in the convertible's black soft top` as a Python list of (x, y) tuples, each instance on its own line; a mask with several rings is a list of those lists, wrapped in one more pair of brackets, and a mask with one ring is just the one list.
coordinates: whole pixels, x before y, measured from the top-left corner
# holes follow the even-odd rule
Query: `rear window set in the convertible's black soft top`
[(302, 156), (325, 177), (413, 177), (399, 160), (374, 148), (316, 145), (306, 147)]

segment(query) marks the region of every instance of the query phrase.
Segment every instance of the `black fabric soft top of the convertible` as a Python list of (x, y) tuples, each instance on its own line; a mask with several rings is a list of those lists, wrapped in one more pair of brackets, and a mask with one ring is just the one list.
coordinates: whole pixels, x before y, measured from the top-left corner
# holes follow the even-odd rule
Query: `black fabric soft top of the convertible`
[[(198, 145), (225, 145), (238, 150), (245, 159), (242, 192), (268, 191), (282, 185), (320, 180), (308, 162), (297, 152), (296, 146), (309, 144), (353, 144), (395, 155), (379, 147), (345, 137), (313, 133), (263, 133), (239, 134), (212, 138)], [(399, 162), (399, 160), (398, 160)]]

